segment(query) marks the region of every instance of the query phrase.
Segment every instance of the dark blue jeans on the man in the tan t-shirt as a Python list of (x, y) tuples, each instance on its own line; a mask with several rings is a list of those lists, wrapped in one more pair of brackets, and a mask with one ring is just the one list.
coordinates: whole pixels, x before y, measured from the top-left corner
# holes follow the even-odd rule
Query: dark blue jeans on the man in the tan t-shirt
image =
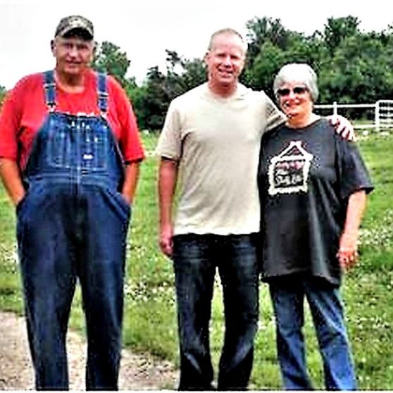
[(218, 389), (247, 387), (258, 323), (257, 240), (254, 235), (175, 236), (180, 390), (212, 387), (208, 326), (216, 268), (223, 285), (225, 307)]

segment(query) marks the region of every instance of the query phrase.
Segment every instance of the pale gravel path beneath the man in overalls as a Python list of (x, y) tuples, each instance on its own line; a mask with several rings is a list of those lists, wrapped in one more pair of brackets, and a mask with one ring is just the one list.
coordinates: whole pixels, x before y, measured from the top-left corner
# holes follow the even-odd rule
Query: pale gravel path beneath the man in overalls
[[(70, 389), (85, 389), (85, 341), (68, 332)], [(175, 389), (177, 370), (171, 363), (123, 350), (119, 388), (122, 390)], [(34, 389), (24, 318), (0, 313), (0, 390)]]

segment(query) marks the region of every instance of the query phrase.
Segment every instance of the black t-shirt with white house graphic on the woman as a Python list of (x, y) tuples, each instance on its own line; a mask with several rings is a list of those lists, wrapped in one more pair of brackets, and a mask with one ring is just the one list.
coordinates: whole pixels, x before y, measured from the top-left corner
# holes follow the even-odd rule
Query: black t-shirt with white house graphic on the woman
[(373, 189), (356, 144), (326, 119), (296, 130), (282, 125), (263, 137), (258, 184), (263, 279), (302, 273), (339, 285), (348, 198)]

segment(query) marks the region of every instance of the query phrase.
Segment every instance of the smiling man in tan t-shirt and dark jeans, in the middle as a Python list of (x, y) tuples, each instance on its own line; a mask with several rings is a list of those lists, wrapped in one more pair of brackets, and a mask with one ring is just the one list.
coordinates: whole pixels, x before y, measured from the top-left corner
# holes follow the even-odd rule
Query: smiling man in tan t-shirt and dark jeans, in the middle
[(175, 268), (180, 390), (212, 387), (208, 327), (216, 268), (225, 306), (218, 389), (245, 389), (251, 373), (258, 323), (258, 156), (263, 132), (285, 116), (265, 93), (239, 84), (246, 51), (235, 30), (212, 35), (208, 82), (171, 102), (158, 141), (160, 246)]

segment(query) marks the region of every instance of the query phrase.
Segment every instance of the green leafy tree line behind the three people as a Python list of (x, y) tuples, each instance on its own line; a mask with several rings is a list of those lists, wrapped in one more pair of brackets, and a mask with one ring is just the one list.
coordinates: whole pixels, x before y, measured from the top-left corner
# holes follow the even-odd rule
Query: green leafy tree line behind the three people
[[(362, 32), (354, 16), (328, 18), (322, 30), (305, 35), (285, 28), (280, 19), (249, 20), (246, 68), (241, 82), (263, 89), (273, 99), (273, 77), (289, 62), (308, 63), (318, 74), (320, 103), (372, 103), (393, 99), (393, 25)], [(119, 46), (102, 42), (93, 67), (116, 77), (132, 101), (141, 129), (160, 130), (170, 101), (206, 80), (202, 58), (166, 50), (166, 70), (151, 67), (142, 85), (127, 77), (130, 59)], [(0, 86), (0, 101), (5, 89)], [(353, 111), (354, 118), (361, 113)]]

